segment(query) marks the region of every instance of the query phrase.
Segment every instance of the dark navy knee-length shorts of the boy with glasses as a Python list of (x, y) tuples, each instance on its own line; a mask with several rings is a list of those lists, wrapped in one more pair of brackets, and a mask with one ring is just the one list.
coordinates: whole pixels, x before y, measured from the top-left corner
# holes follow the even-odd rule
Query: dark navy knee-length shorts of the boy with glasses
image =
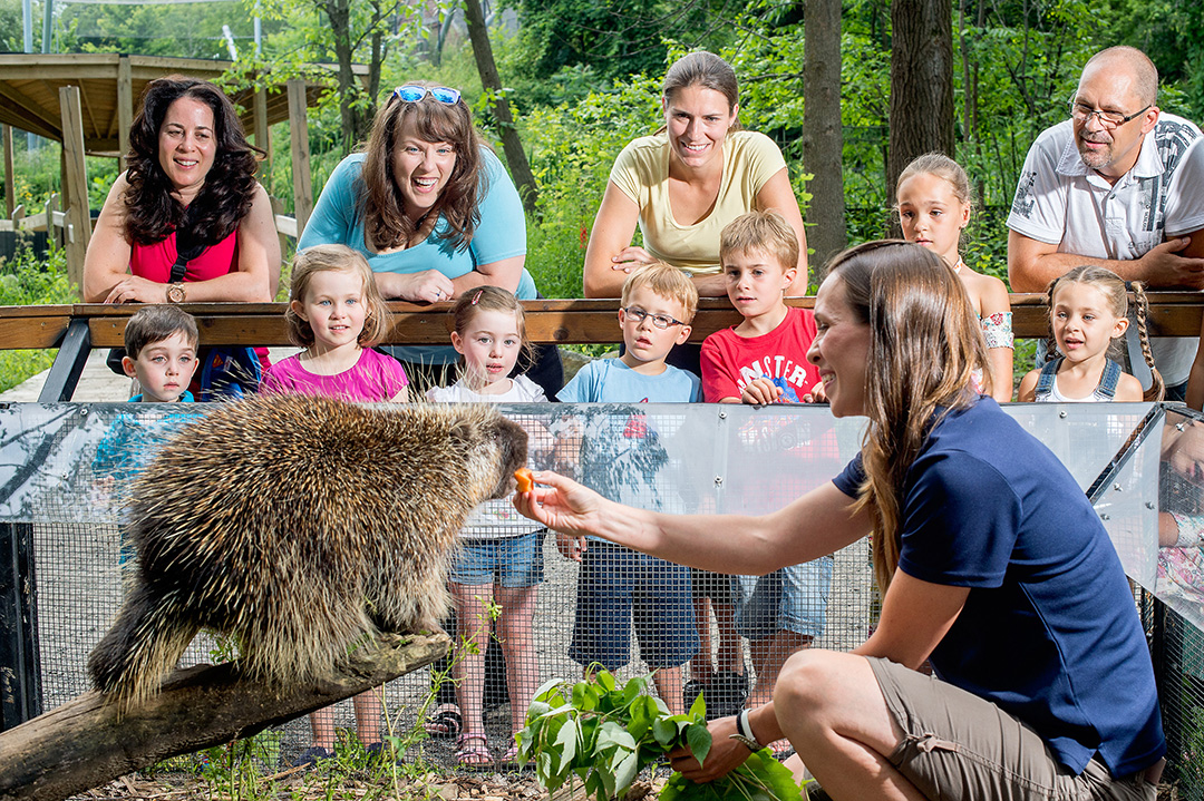
[(690, 569), (621, 545), (589, 540), (577, 577), (577, 616), (568, 658), (607, 670), (627, 664), (635, 623), (639, 655), (653, 670), (698, 652)]

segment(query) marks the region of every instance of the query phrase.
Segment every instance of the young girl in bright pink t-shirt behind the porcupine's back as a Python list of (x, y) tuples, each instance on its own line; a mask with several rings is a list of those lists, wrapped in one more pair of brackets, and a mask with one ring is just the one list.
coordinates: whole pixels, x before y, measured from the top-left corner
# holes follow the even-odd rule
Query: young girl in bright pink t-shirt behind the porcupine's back
[[(344, 245), (318, 245), (297, 254), (284, 318), (289, 339), (305, 348), (272, 364), (261, 392), (299, 392), (352, 402), (405, 402), (409, 381), (401, 364), (372, 345), (389, 331), (389, 309), (364, 256)], [(355, 696), (355, 723), (370, 753), (380, 749), (382, 704), (377, 690)], [(313, 746), (294, 760), (311, 765), (335, 755), (335, 714), (309, 716)]]

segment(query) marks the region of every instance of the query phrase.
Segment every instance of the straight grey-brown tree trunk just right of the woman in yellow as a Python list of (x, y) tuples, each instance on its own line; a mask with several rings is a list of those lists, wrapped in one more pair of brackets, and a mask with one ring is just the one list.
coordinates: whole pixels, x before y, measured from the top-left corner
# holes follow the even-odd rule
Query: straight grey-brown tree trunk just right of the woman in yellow
[(814, 178), (807, 207), (808, 271), (844, 250), (844, 136), (840, 127), (840, 0), (809, 0), (803, 40), (803, 166)]

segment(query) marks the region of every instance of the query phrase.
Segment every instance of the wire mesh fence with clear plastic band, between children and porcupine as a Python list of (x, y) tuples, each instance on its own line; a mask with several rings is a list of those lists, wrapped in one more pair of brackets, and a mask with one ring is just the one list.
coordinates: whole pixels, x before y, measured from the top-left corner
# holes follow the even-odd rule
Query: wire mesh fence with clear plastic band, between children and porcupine
[[(769, 511), (822, 485), (856, 453), (863, 422), (834, 420), (815, 407), (501, 409), (531, 434), (531, 467), (571, 473), (637, 506), (702, 514)], [(1204, 547), (1198, 540), (1204, 444), (1197, 443), (1198, 437), (1204, 443), (1204, 425), (1196, 425), (1204, 419), (1155, 404), (1017, 404), (1008, 410), (1062, 458), (1112, 535), (1153, 646), (1169, 775), (1182, 797), (1204, 799)], [(205, 404), (0, 408), (0, 523), (31, 532), (42, 710), (88, 688), (87, 655), (112, 623), (123, 575), (132, 565), (122, 535), (131, 481), (166, 439), (205, 413)], [(216, 465), (213, 492), (237, 480)], [(380, 491), (439, 503), (438, 487)], [(272, 487), (262, 488), (262, 498), (260, 508), (242, 511), (271, 514), (273, 503), (284, 503), (273, 502)], [(621, 677), (655, 668), (657, 689), (671, 707), (704, 692), (713, 711), (733, 712), (745, 695), (763, 696), (791, 651), (808, 645), (848, 651), (874, 623), (877, 594), (864, 540), (768, 577), (719, 576), (601, 541), (586, 542), (574, 560), (565, 554), (574, 554), (576, 544), (532, 532), (533, 524), (515, 518), (506, 504), (470, 521), (470, 546), (453, 576), (454, 594), (468, 615), (461, 629), (492, 630), (484, 658), (464, 663), (459, 672), (478, 688), (494, 755), (521, 725), (521, 710), (515, 714), (507, 704), (510, 690), (521, 693), (551, 677), (574, 680), (590, 663)], [(501, 589), (492, 593), (495, 578)], [(490, 595), (491, 603), (483, 603)], [(501, 618), (498, 605), (506, 610)], [(456, 624), (447, 625), (454, 630)], [(500, 645), (507, 637), (512, 647)], [(182, 664), (220, 660), (226, 653), (220, 640), (202, 635)], [(419, 724), (432, 692), (433, 704), (458, 700), (450, 683), (432, 690), (427, 670), (390, 682), (384, 700), (391, 724)], [(478, 696), (468, 698), (472, 706)], [(337, 725), (355, 729), (349, 702), (335, 714)], [(477, 724), (470, 719), (468, 725)], [(287, 763), (309, 744), (309, 728), (294, 720), (278, 738), (279, 759)], [(427, 756), (454, 766), (452, 742), (430, 741)]]

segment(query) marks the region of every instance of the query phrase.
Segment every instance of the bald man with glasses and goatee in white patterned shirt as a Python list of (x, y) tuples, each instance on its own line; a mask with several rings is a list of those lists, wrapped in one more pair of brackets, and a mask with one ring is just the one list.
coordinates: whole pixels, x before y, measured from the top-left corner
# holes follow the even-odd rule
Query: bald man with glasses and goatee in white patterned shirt
[[(1190, 120), (1163, 113), (1157, 93), (1158, 71), (1137, 48), (1087, 61), (1069, 119), (1025, 159), (1008, 216), (1013, 291), (1041, 292), (1080, 265), (1150, 289), (1204, 289), (1204, 140)], [(1184, 398), (1197, 342), (1152, 340), (1168, 399)], [(1128, 361), (1149, 386), (1134, 348)]]

